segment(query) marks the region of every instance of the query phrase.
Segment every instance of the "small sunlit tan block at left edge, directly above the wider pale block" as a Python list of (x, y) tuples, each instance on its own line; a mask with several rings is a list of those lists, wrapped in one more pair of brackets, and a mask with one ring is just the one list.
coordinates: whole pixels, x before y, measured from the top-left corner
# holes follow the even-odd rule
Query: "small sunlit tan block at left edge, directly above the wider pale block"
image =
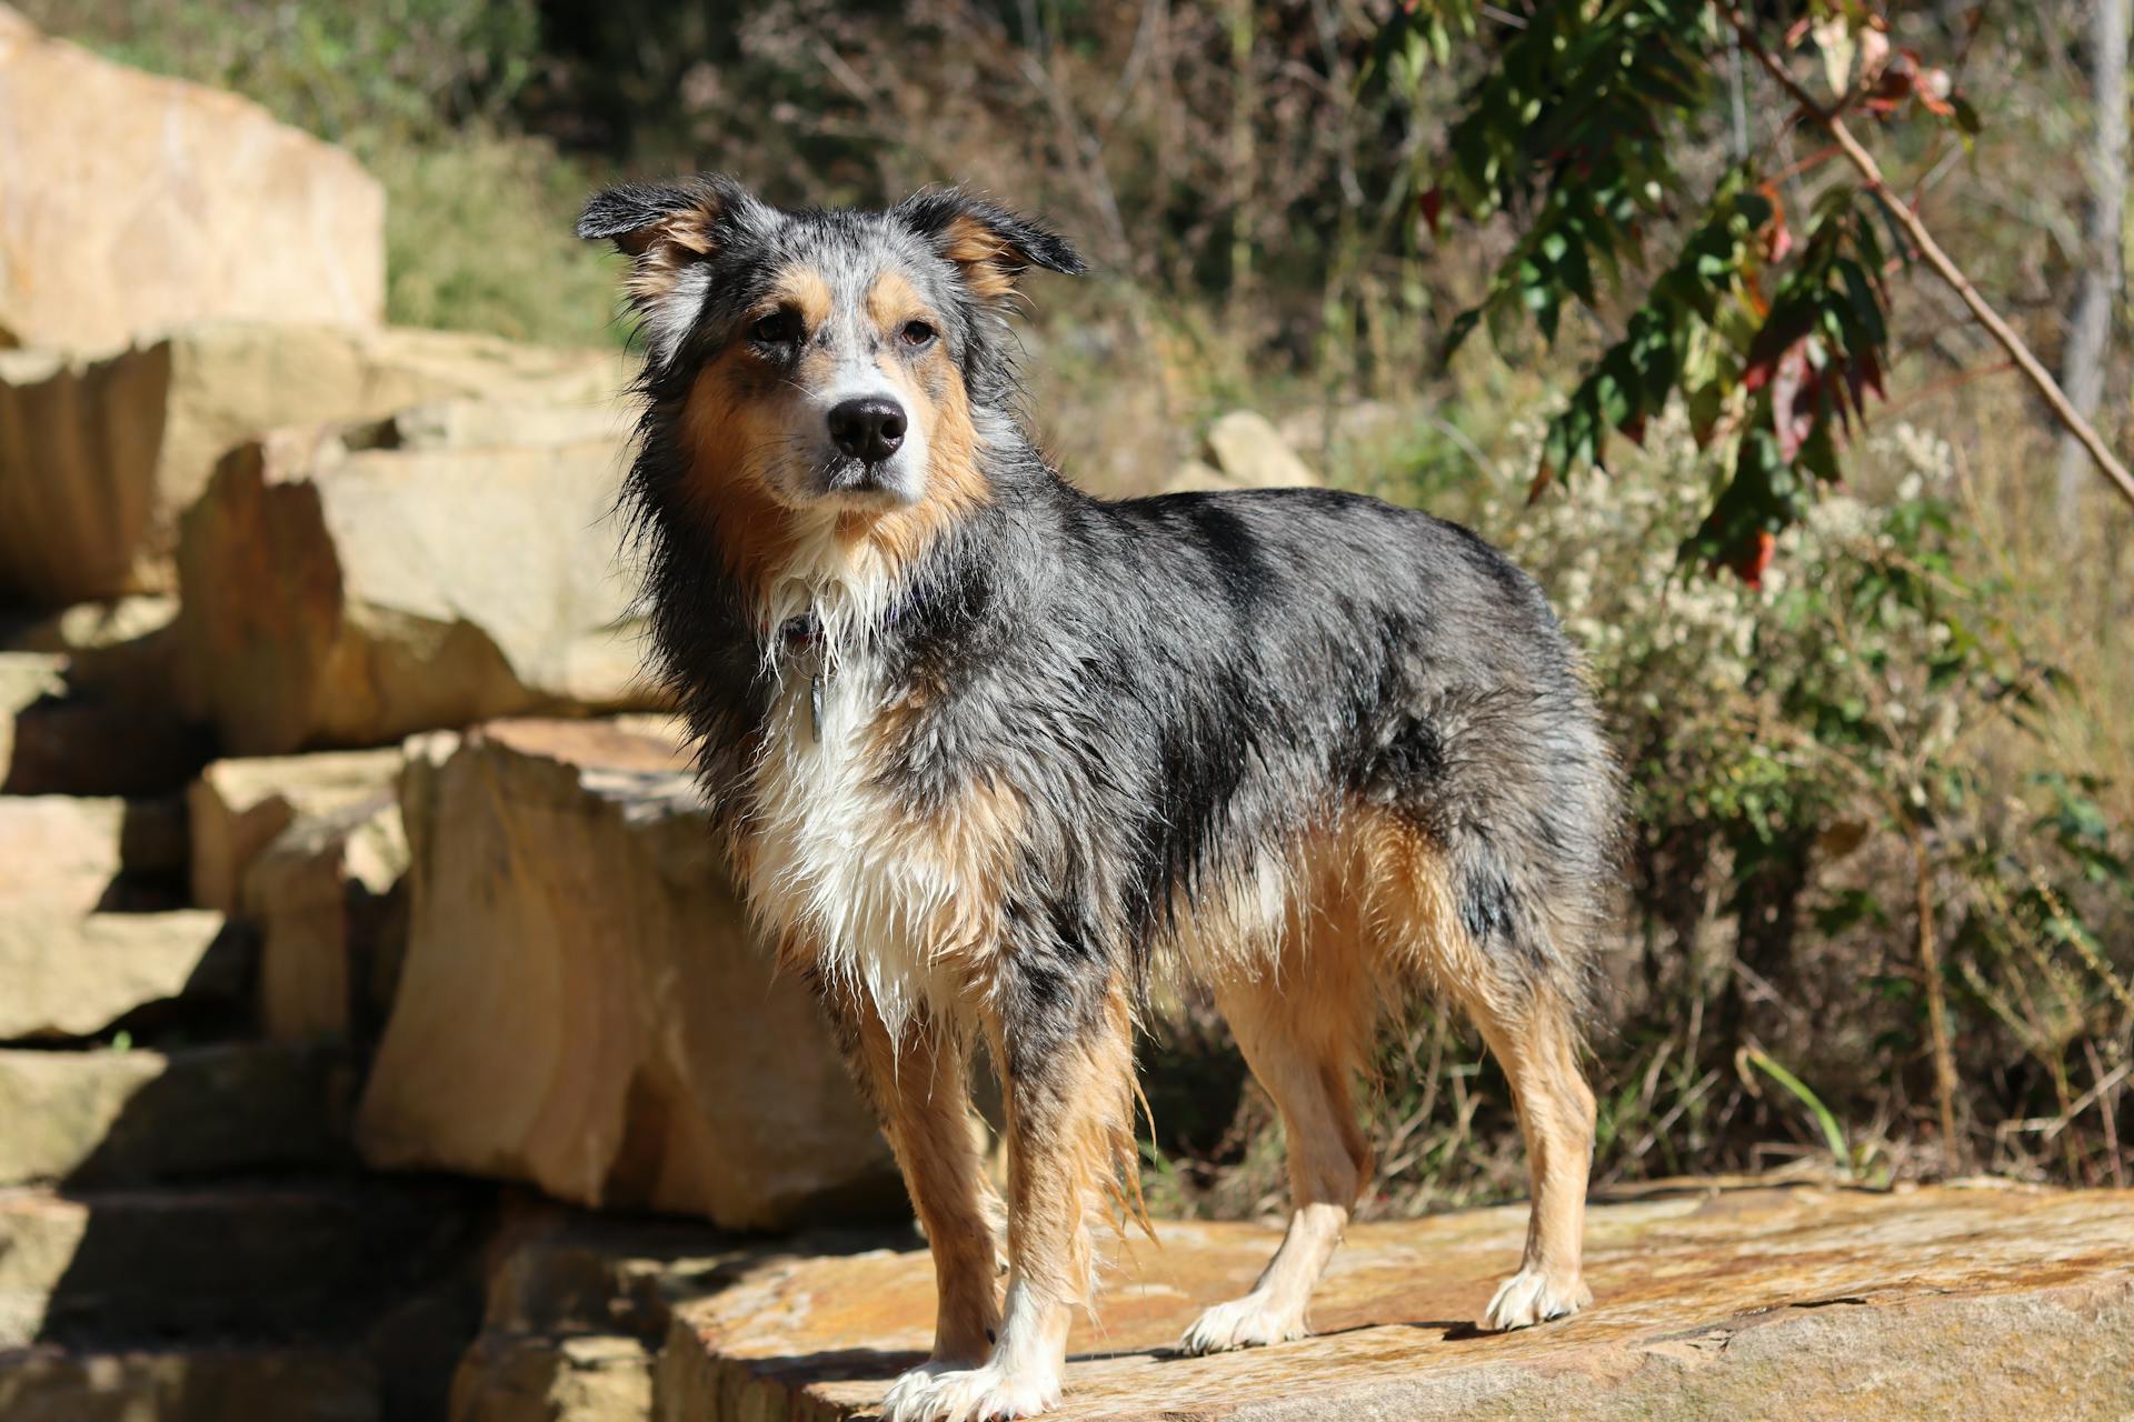
[(0, 904), (11, 912), (81, 915), (126, 906), (126, 876), (186, 866), (175, 799), (0, 795)]

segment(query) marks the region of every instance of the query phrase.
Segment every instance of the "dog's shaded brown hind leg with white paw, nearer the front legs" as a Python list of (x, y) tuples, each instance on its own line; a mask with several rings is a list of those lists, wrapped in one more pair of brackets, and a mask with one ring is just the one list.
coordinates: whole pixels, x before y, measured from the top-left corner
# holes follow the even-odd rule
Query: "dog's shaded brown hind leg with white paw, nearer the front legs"
[(1370, 1145), (1357, 1128), (1351, 1087), (1376, 1013), (1349, 947), (1321, 942), (1323, 951), (1291, 979), (1216, 987), (1216, 1006), (1244, 1060), (1283, 1113), (1291, 1215), (1253, 1292), (1214, 1305), (1187, 1328), (1180, 1347), (1189, 1354), (1285, 1343), (1308, 1332), (1312, 1288), (1340, 1247), (1370, 1175)]

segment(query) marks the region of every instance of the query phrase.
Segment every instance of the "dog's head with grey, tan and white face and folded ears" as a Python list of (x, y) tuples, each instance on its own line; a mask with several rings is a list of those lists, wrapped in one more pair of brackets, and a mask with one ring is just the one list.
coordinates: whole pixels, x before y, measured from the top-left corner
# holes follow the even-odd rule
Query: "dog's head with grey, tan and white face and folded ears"
[(982, 497), (1016, 284), (1082, 271), (1056, 235), (962, 192), (787, 211), (698, 177), (602, 192), (578, 235), (634, 258), (625, 290), (685, 446), (681, 492), (721, 522), (849, 524)]

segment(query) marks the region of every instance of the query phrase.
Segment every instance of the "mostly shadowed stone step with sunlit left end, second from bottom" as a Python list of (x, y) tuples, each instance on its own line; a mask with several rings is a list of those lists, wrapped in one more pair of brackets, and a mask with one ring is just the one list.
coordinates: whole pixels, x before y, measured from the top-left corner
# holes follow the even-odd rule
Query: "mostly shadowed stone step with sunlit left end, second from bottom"
[(474, 1198), (361, 1179), (0, 1190), (0, 1347), (361, 1339), (465, 1251)]

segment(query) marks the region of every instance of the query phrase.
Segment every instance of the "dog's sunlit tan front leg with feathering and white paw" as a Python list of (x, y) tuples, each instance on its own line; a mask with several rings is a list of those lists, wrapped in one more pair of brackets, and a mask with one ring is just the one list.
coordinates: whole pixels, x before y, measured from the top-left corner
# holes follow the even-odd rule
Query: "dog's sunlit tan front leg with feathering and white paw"
[(984, 1367), (907, 1373), (888, 1422), (1024, 1418), (1061, 1401), (1067, 1328), (1093, 1288), (1088, 1217), (1133, 1168), (1133, 1036), (1114, 987), (1048, 1040), (999, 1032), (1007, 1085), (1007, 1307)]

